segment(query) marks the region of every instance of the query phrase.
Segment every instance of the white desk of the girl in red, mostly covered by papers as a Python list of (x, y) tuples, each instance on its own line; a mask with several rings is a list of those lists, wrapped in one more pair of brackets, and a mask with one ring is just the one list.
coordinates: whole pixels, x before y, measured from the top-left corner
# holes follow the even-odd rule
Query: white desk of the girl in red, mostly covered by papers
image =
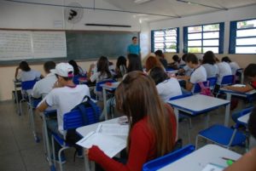
[[(96, 128), (98, 127), (99, 124), (102, 123), (118, 123), (118, 118), (114, 118), (114, 119), (110, 119), (110, 120), (106, 120), (100, 123), (94, 123), (94, 124), (90, 124), (90, 125), (86, 125), (84, 127), (80, 127), (76, 129), (76, 132), (78, 134), (80, 134), (82, 137), (86, 136), (87, 134), (89, 134), (91, 131), (96, 131)], [(126, 140), (127, 137), (126, 136), (119, 136), (120, 138)], [(118, 153), (117, 153), (118, 154)], [(89, 167), (89, 160), (87, 157), (84, 157), (84, 165), (85, 165), (85, 171), (90, 171), (90, 170), (94, 170), (94, 166), (90, 169)], [(92, 164), (94, 165), (94, 164)]]

